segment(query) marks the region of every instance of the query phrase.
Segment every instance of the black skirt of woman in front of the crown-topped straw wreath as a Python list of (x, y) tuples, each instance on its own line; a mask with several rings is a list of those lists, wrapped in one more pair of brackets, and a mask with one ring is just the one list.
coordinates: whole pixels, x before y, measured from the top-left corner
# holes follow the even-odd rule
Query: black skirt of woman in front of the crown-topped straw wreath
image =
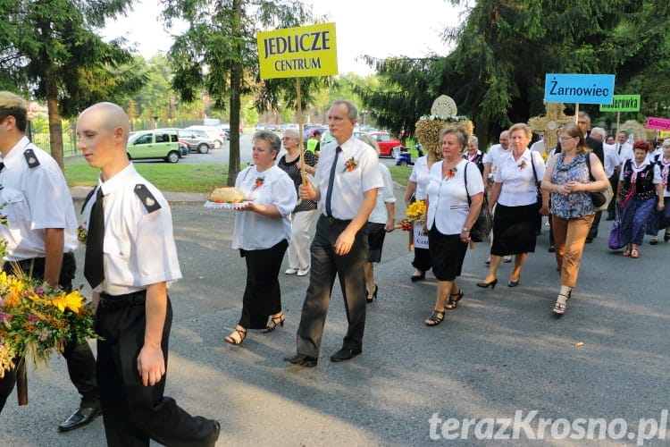
[(461, 275), (467, 242), (460, 234), (442, 234), (433, 223), (428, 232), (428, 249), (431, 251), (432, 274), (438, 281), (454, 281)]

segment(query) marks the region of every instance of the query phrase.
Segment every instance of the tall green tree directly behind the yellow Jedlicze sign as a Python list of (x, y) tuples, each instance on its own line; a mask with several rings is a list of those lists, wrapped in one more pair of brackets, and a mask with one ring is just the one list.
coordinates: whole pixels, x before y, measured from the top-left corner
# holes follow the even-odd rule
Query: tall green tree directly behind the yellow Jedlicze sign
[[(259, 111), (296, 103), (294, 80), (259, 79), (255, 36), (261, 30), (300, 26), (311, 20), (311, 13), (303, 4), (289, 0), (165, 0), (163, 5), (168, 26), (173, 19), (189, 24), (168, 54), (174, 70), (173, 88), (187, 102), (201, 89), (216, 108), (225, 109), (229, 101), (228, 184), (232, 185), (240, 163), (240, 97), (254, 93)], [(308, 98), (318, 80), (304, 78), (301, 82), (303, 96)]]

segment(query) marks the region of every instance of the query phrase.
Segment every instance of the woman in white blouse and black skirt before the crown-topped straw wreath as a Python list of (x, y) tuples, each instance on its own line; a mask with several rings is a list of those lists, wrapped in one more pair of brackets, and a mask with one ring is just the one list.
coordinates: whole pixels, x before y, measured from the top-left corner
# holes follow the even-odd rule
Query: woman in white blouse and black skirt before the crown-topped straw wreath
[[(470, 241), (470, 228), (482, 209), (484, 182), (477, 165), (461, 156), (467, 145), (467, 133), (449, 126), (440, 133), (444, 160), (433, 164), (429, 177), (428, 247), (432, 273), (438, 280), (435, 308), (425, 320), (428, 326), (440, 325), (445, 308), (456, 308), (463, 291), (456, 283)], [(468, 202), (471, 202), (468, 205)]]

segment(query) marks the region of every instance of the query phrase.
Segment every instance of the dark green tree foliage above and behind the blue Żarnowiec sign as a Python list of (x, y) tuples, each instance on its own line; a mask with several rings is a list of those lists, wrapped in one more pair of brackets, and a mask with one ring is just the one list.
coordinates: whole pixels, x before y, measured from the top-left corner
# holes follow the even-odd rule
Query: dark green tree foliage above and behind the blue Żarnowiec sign
[(448, 94), (478, 133), (543, 114), (551, 72), (615, 73), (616, 93), (667, 104), (667, 72), (656, 71), (667, 68), (668, 8), (666, 0), (477, 0), (459, 27), (445, 30), (445, 41), (455, 44), (446, 57), (371, 61), (386, 83), (365, 98), (381, 116), (393, 116), (404, 100), (423, 114), (434, 97)]

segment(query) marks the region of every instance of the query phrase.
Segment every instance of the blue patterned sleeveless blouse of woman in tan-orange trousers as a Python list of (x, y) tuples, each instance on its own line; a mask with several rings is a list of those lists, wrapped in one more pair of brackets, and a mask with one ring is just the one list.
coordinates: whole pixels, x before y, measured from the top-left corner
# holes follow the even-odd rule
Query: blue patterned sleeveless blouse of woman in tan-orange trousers
[[(551, 182), (555, 185), (562, 185), (568, 181), (589, 183), (589, 168), (586, 165), (588, 155), (589, 153), (579, 154), (574, 157), (572, 162), (564, 164), (565, 154), (558, 154), (556, 164), (554, 164), (554, 172), (551, 173)], [(596, 209), (593, 207), (593, 201), (586, 191), (572, 192), (566, 196), (552, 192), (551, 214), (562, 219), (574, 219), (584, 215), (594, 215)]]

